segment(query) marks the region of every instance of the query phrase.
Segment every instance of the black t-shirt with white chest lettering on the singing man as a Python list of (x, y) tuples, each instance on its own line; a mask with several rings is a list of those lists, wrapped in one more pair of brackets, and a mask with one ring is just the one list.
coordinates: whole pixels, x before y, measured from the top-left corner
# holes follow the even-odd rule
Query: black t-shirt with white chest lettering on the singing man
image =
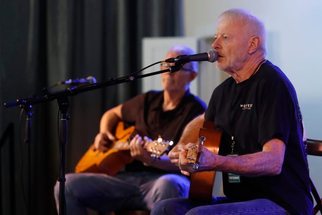
[(282, 172), (276, 176), (243, 177), (228, 182), (223, 172), (224, 194), (236, 201), (268, 198), (292, 214), (311, 214), (309, 174), (302, 141), (297, 96), (291, 82), (277, 66), (266, 62), (256, 74), (239, 84), (230, 77), (210, 99), (205, 120), (223, 131), (219, 154), (242, 155), (262, 151), (277, 138), (286, 144)]

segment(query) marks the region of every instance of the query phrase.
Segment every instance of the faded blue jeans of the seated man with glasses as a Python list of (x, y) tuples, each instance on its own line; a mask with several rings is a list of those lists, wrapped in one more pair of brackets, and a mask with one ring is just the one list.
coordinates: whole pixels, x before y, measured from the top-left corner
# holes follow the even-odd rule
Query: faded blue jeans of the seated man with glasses
[[(67, 215), (86, 215), (86, 208), (112, 212), (125, 208), (152, 210), (159, 200), (187, 197), (190, 181), (181, 174), (121, 172), (116, 176), (100, 173), (66, 174)], [(59, 211), (59, 182), (54, 188)]]

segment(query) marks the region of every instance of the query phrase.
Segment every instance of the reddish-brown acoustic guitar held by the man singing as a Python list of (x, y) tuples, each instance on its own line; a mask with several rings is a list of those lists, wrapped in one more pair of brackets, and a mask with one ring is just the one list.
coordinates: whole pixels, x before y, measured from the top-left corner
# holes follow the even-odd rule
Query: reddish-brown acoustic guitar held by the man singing
[[(216, 130), (214, 122), (205, 121), (199, 131), (197, 143), (188, 150), (187, 159), (189, 163), (193, 163), (195, 166), (199, 165), (202, 147), (218, 154), (221, 134), (221, 131)], [(210, 203), (215, 175), (215, 171), (192, 173), (190, 176), (189, 199)]]

